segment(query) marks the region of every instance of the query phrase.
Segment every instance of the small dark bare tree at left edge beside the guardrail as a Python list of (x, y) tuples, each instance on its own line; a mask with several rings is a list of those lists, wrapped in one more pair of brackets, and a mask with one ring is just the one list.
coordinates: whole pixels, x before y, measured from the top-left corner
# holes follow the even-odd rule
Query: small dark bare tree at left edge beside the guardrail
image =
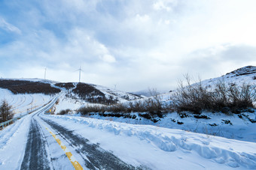
[(0, 121), (4, 122), (12, 118), (14, 118), (14, 114), (11, 112), (11, 106), (9, 106), (6, 100), (2, 100), (0, 106)]

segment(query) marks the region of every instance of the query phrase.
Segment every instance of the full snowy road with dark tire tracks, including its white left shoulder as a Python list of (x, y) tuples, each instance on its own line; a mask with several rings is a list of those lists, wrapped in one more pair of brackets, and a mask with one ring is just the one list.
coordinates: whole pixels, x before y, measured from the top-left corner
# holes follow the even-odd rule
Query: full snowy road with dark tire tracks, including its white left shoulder
[(46, 108), (2, 130), (0, 169), (136, 169), (98, 144), (41, 118)]

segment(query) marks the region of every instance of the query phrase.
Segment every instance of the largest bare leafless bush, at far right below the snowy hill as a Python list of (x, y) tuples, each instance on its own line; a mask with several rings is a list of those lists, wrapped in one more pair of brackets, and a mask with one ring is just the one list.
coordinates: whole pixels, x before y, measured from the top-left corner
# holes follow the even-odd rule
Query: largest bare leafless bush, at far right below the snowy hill
[(224, 113), (239, 113), (242, 109), (254, 107), (255, 88), (252, 85), (227, 85), (218, 82), (214, 88), (203, 86), (201, 82), (190, 84), (186, 76), (187, 86), (182, 82), (174, 97), (175, 109), (178, 112), (190, 111), (200, 114), (203, 110)]

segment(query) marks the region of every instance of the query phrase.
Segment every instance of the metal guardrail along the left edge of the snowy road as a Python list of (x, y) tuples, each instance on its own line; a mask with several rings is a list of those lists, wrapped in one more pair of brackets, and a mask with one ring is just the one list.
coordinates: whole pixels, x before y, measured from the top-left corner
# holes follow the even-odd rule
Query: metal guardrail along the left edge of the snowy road
[[(59, 96), (60, 96), (60, 95), (59, 95)], [(49, 104), (47, 103), (48, 106), (46, 106), (44, 109), (42, 109), (41, 112), (46, 112), (47, 109), (50, 109), (51, 107), (53, 107), (54, 103), (56, 103), (56, 100), (58, 100), (59, 96), (57, 96), (57, 97), (55, 97), (53, 100), (51, 100), (51, 101), (49, 102)], [(44, 105), (44, 106), (45, 106), (45, 105)], [(41, 108), (43, 108), (44, 106), (42, 106)], [(41, 109), (41, 108), (34, 109), (34, 110), (30, 111), (30, 112), (27, 112), (27, 113), (24, 114), (24, 115), (20, 115), (20, 116), (17, 116), (17, 117), (15, 117), (15, 118), (12, 118), (11, 120), (2, 122), (2, 123), (0, 123), (0, 128), (1, 128), (1, 129), (4, 129), (4, 127), (8, 126), (8, 125), (11, 124), (11, 123), (14, 123), (14, 121), (17, 121), (18, 119), (23, 118), (24, 116), (29, 115), (30, 113), (35, 112), (36, 110)]]

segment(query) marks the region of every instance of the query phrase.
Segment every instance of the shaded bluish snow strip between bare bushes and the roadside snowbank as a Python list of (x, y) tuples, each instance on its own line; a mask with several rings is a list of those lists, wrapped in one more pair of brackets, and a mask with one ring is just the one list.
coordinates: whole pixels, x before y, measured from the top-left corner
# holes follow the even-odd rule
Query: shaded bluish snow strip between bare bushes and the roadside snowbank
[[(133, 113), (133, 115), (136, 115), (135, 119), (104, 117), (99, 114), (91, 114), (88, 115), (88, 117), (128, 124), (148, 124), (157, 127), (221, 136), (228, 139), (256, 142), (256, 123), (251, 123), (250, 121), (254, 120), (256, 115), (250, 112), (244, 112), (239, 115), (225, 115), (223, 113), (212, 114), (211, 112), (203, 112), (201, 115), (193, 115), (189, 113), (178, 114), (177, 112), (173, 112), (167, 114), (163, 118), (158, 118), (156, 123), (146, 118), (139, 117), (138, 113)], [(81, 115), (78, 114), (74, 116)]]

